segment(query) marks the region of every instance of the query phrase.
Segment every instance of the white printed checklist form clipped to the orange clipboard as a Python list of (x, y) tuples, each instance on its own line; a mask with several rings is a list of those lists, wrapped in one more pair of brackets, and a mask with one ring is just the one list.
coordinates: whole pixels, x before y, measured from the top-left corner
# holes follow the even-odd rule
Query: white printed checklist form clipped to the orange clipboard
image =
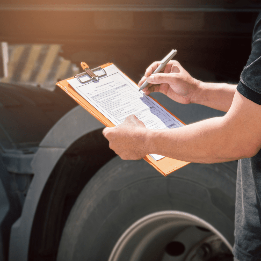
[[(99, 78), (99, 80), (82, 84), (74, 78), (68, 80), (68, 82), (75, 91), (112, 123), (118, 125), (127, 116), (134, 114), (149, 129), (169, 129), (184, 126), (153, 99), (139, 91), (139, 87), (114, 64), (106, 67), (105, 70), (107, 75)], [(83, 81), (83, 79), (81, 80)], [(164, 156), (156, 154), (150, 156), (155, 160), (164, 158)]]

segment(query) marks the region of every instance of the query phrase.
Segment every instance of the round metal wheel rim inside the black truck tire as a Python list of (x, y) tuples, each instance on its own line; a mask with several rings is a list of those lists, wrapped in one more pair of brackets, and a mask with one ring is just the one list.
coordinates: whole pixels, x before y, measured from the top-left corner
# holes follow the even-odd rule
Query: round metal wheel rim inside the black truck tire
[(133, 223), (118, 239), (108, 261), (221, 260), (218, 257), (230, 257), (230, 251), (230, 243), (211, 224), (195, 215), (169, 210)]

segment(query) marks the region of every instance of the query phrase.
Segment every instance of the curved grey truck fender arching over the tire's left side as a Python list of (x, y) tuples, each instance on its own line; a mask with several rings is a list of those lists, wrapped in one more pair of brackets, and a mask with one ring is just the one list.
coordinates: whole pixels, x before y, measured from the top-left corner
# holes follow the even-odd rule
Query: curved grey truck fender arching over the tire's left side
[(38, 201), (57, 161), (66, 149), (83, 135), (104, 127), (96, 118), (76, 106), (46, 134), (31, 166), (34, 177), (28, 189), (21, 217), (13, 224), (10, 235), (9, 261), (27, 261), (31, 228)]

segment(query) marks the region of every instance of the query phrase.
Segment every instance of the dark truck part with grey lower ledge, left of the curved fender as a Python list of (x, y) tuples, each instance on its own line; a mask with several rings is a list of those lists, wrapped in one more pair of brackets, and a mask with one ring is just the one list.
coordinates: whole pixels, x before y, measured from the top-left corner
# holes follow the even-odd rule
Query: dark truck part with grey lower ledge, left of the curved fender
[(39, 143), (76, 103), (58, 88), (51, 92), (30, 86), (0, 84), (0, 92), (3, 160), (11, 172), (32, 174), (28, 167)]

